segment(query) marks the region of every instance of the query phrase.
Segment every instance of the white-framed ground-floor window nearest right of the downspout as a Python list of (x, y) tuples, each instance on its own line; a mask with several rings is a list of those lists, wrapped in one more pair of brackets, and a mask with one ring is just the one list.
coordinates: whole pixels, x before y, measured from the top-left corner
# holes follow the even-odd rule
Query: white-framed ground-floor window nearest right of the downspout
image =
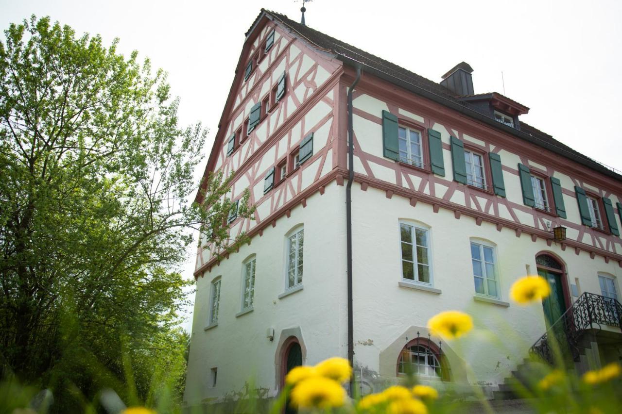
[(431, 284), (430, 251), (427, 229), (399, 224), (402, 249), (402, 278)]

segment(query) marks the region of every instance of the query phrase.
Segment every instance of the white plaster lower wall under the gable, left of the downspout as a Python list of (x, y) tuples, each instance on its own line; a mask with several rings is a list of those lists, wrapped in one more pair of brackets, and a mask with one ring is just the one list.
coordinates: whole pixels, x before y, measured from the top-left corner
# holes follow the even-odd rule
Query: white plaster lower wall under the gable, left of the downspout
[[(346, 277), (344, 186), (335, 182), (325, 193), (315, 193), (292, 209), (290, 218), (268, 226), (263, 236), (231, 254), (197, 280), (192, 342), (188, 361), (185, 398), (190, 405), (204, 398), (222, 397), (239, 391), (244, 382), (276, 393), (274, 357), (283, 329), (299, 326), (307, 347), (307, 364), (331, 356), (346, 357)], [(335, 206), (335, 208), (327, 208)], [(279, 299), (285, 290), (285, 234), (304, 224), (304, 289)], [(256, 254), (254, 310), (236, 318), (241, 310), (242, 262)], [(218, 326), (205, 331), (211, 281), (221, 276)], [(266, 338), (274, 328), (275, 339)], [(210, 370), (218, 368), (216, 387)]]

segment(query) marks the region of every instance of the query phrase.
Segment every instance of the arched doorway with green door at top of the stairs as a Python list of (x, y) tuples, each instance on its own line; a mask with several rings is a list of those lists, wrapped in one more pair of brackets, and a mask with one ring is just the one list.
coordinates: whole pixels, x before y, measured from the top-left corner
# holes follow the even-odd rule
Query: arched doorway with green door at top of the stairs
[(570, 306), (570, 294), (564, 265), (551, 254), (542, 253), (536, 256), (538, 275), (543, 277), (550, 286), (550, 295), (542, 300), (544, 318), (547, 326), (564, 315)]

